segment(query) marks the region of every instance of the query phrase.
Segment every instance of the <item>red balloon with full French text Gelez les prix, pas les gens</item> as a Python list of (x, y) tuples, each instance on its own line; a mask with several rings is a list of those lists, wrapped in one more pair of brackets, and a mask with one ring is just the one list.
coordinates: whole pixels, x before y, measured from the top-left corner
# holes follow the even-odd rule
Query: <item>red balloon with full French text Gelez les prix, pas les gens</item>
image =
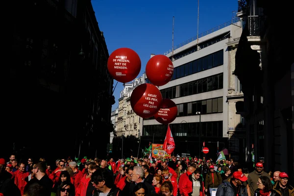
[(160, 109), (162, 96), (153, 84), (137, 86), (131, 95), (131, 107), (142, 118), (150, 118)]

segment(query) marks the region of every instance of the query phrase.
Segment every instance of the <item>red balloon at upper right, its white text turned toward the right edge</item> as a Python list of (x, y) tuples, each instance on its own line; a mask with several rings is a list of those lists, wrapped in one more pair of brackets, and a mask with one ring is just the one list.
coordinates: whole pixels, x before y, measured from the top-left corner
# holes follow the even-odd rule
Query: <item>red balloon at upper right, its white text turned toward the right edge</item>
[(146, 65), (146, 75), (155, 86), (163, 86), (172, 79), (173, 65), (169, 57), (158, 54), (151, 57)]

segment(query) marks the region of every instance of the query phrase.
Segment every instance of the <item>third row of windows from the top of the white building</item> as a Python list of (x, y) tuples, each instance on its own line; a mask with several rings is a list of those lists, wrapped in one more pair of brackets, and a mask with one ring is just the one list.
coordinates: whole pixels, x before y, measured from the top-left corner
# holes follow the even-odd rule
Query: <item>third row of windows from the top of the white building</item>
[(223, 88), (223, 73), (160, 90), (162, 98), (180, 98)]

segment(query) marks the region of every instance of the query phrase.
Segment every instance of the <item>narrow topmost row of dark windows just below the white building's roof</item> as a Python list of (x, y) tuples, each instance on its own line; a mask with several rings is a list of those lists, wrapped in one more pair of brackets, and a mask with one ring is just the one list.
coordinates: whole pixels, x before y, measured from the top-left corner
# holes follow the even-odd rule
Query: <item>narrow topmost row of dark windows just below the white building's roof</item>
[[(189, 55), (189, 54), (191, 54), (193, 52), (196, 52), (199, 49), (204, 49), (204, 48), (209, 47), (209, 46), (211, 46), (213, 44), (216, 44), (216, 43), (218, 43), (218, 42), (220, 42), (222, 40), (225, 40), (225, 39), (227, 39), (229, 37), (230, 37), (230, 33), (225, 32), (225, 33), (219, 35), (218, 37), (212, 38), (210, 40), (207, 40), (205, 42), (202, 42), (202, 43), (198, 44), (198, 48), (197, 48), (197, 45), (196, 45), (196, 46), (194, 46), (192, 48), (186, 49), (186, 50), (184, 50), (182, 52), (179, 52), (179, 53), (173, 55), (173, 59), (177, 60), (177, 59), (182, 58), (184, 56), (187, 56), (187, 55)], [(170, 57), (170, 58), (172, 59), (172, 57)]]

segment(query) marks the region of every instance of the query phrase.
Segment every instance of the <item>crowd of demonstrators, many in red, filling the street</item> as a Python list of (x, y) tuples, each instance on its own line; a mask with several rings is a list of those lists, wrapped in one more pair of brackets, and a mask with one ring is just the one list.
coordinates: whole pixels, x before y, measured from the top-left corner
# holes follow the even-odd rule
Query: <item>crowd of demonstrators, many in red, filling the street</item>
[(0, 158), (0, 196), (294, 196), (286, 172), (234, 160)]

